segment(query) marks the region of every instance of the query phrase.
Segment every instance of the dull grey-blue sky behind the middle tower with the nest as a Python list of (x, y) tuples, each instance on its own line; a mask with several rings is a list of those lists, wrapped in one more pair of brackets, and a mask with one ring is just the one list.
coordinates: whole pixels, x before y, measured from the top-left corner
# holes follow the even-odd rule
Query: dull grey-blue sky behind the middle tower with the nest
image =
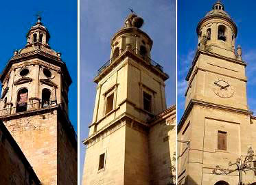
[[(143, 31), (152, 38), (152, 59), (170, 75), (166, 81), (167, 106), (175, 103), (175, 1), (174, 0), (81, 0), (80, 1), (80, 71), (81, 140), (88, 136), (95, 103), (93, 77), (110, 57), (110, 39), (124, 25), (128, 8), (144, 19)], [(85, 146), (80, 143), (80, 172)], [(82, 176), (82, 175), (81, 175)]]

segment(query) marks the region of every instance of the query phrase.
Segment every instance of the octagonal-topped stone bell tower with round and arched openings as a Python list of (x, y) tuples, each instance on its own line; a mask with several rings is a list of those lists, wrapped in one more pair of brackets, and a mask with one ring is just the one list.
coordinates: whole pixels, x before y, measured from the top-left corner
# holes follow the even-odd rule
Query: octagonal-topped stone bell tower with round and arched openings
[(49, 46), (41, 18), (14, 51), (0, 80), (0, 119), (40, 182), (77, 184), (77, 141), (68, 116), (71, 77), (60, 53)]

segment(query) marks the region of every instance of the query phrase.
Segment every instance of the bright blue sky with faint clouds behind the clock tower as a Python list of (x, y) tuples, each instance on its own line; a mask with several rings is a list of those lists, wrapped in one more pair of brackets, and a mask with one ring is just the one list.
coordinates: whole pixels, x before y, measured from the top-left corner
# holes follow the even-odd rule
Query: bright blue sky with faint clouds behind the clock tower
[[(178, 1), (178, 120), (183, 115), (185, 106), (185, 76), (191, 66), (196, 52), (198, 38), (196, 26), (198, 22), (211, 10), (216, 0), (185, 0)], [(249, 109), (256, 112), (256, 43), (255, 43), (255, 1), (222, 1), (226, 12), (231, 15), (238, 27), (235, 46), (242, 46), (242, 59), (248, 63), (246, 68), (247, 99)]]

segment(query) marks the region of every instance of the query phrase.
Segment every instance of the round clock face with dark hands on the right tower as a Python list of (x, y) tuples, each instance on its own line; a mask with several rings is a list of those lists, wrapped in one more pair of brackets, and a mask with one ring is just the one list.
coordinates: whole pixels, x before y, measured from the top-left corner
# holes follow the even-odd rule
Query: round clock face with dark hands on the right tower
[(218, 79), (213, 82), (213, 92), (221, 98), (230, 98), (234, 94), (234, 89), (227, 81)]

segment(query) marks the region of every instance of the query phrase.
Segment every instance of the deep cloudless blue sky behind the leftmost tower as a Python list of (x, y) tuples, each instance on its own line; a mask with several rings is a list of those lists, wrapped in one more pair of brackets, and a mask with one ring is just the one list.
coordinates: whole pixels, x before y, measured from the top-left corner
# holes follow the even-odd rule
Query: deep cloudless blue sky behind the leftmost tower
[(2, 72), (15, 49), (23, 48), (26, 33), (36, 23), (38, 11), (49, 29), (51, 48), (62, 53), (69, 69), (72, 85), (69, 88), (69, 119), (77, 130), (77, 3), (76, 1), (1, 1), (0, 11), (0, 71)]

